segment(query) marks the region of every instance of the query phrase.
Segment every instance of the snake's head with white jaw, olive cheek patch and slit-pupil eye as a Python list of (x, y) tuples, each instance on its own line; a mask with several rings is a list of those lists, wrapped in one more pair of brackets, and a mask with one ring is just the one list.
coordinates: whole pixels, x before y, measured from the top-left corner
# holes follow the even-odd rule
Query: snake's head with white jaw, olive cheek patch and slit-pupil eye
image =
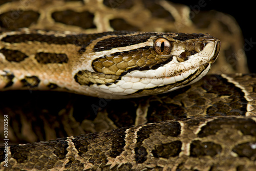
[[(132, 33), (103, 37), (83, 54), (80, 85), (103, 98), (131, 98), (170, 92), (201, 79), (220, 51), (208, 34)], [(90, 66), (90, 67), (88, 67)]]

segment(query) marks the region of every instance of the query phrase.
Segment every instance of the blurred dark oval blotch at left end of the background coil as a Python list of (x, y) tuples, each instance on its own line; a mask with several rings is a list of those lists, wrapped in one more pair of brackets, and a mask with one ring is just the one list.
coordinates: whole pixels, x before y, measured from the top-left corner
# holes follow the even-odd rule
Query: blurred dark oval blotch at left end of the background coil
[(0, 26), (8, 30), (29, 27), (37, 22), (39, 15), (39, 13), (32, 10), (22, 12), (8, 11), (0, 15)]

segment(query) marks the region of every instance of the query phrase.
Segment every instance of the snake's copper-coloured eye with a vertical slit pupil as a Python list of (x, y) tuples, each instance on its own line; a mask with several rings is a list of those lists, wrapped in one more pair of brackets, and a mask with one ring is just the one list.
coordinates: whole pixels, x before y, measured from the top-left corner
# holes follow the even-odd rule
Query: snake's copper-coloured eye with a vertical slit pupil
[(168, 55), (172, 49), (172, 45), (165, 38), (158, 38), (154, 43), (155, 51), (158, 55)]

